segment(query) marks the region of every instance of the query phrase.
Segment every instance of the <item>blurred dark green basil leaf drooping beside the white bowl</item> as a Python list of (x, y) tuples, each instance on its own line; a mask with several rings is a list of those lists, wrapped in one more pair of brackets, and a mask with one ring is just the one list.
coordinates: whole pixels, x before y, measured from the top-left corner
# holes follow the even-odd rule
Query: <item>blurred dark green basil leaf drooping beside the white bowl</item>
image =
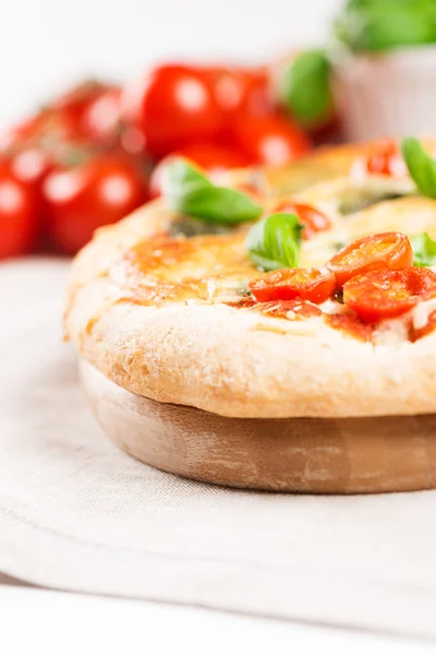
[(305, 128), (325, 123), (334, 114), (331, 64), (323, 50), (299, 55), (281, 80), (284, 107)]

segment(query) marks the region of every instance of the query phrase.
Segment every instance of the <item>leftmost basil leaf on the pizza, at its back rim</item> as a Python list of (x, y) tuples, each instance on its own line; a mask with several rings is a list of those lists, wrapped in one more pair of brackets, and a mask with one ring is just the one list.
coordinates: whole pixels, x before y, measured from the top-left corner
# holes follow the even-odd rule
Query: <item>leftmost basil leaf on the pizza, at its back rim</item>
[(262, 213), (261, 205), (249, 195), (213, 184), (183, 158), (165, 169), (162, 189), (172, 210), (207, 223), (234, 225), (256, 221)]

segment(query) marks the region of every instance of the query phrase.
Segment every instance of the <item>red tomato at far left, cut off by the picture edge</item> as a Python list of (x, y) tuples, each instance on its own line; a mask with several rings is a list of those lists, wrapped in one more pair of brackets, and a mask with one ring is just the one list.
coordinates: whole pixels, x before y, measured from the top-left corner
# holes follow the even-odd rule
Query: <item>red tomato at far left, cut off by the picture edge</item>
[(28, 252), (35, 245), (38, 215), (29, 187), (0, 169), (0, 258)]

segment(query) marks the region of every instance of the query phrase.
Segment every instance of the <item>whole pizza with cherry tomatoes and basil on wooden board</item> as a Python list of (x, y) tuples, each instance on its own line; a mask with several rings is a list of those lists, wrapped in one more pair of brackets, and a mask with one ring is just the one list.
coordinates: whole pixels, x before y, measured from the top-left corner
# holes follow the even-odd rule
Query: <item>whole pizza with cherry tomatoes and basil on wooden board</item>
[(215, 180), (174, 162), (75, 258), (66, 337), (116, 384), (222, 416), (435, 412), (433, 145)]

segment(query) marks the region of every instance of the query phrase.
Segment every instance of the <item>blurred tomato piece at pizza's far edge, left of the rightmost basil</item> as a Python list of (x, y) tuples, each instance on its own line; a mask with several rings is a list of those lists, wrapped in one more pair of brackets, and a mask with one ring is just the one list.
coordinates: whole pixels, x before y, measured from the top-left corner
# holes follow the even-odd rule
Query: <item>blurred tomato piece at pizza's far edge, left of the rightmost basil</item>
[(355, 178), (367, 175), (405, 177), (408, 168), (397, 143), (386, 141), (374, 147), (367, 155), (358, 157), (351, 166), (350, 175)]

